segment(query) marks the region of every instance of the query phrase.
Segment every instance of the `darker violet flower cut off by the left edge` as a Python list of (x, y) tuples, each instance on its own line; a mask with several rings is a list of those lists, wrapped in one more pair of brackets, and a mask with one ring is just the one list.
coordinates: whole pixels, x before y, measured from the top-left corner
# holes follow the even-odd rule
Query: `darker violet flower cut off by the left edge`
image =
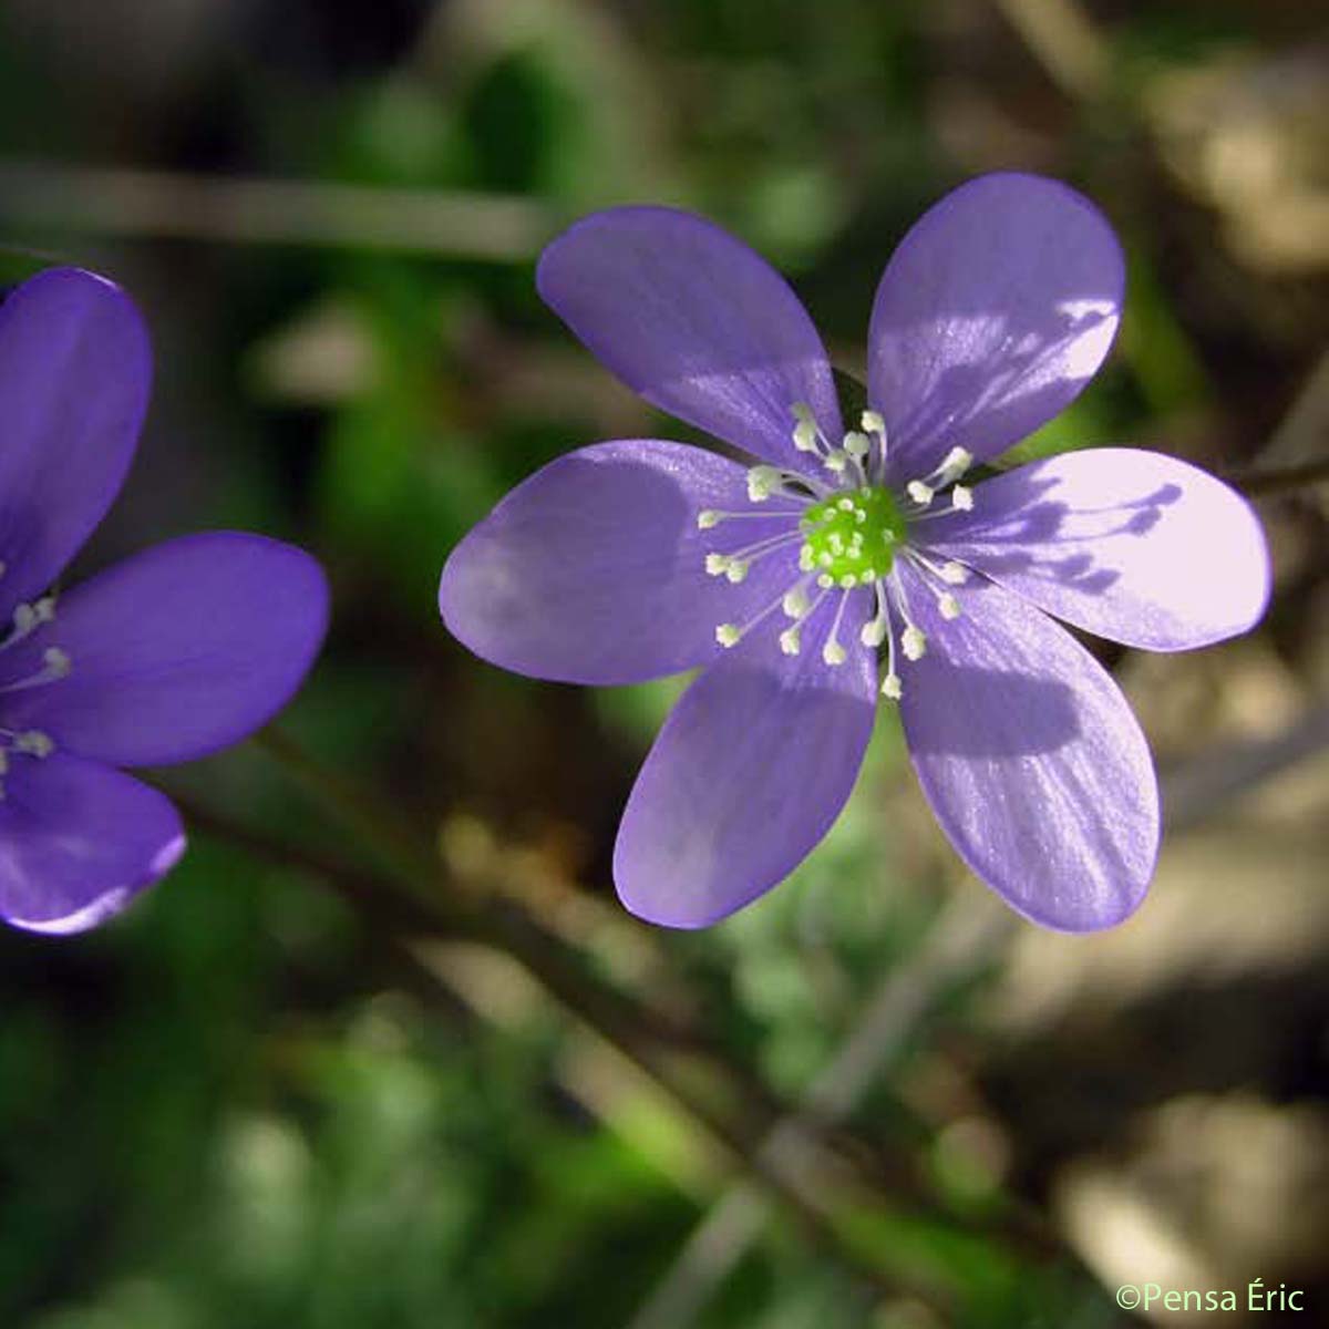
[(295, 691), (327, 625), (318, 563), (262, 536), (185, 536), (58, 597), (148, 407), (137, 310), (76, 268), (0, 306), (0, 917), (92, 928), (167, 872), (179, 816), (117, 767), (234, 743)]

